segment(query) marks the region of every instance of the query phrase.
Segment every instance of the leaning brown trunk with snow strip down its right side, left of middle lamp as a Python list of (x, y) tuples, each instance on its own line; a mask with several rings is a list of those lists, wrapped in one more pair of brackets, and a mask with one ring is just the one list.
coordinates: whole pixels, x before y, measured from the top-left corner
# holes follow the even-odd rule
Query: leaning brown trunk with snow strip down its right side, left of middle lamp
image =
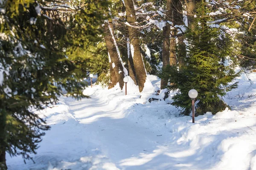
[(119, 86), (122, 89), (124, 86), (123, 79), (125, 75), (128, 74), (128, 72), (126, 68), (124, 68), (124, 65), (122, 63), (120, 52), (114, 37), (113, 24), (111, 20), (105, 22), (104, 33), (104, 40), (108, 48), (111, 68), (111, 83), (108, 88), (113, 88), (113, 86), (116, 85), (117, 82), (119, 82)]

